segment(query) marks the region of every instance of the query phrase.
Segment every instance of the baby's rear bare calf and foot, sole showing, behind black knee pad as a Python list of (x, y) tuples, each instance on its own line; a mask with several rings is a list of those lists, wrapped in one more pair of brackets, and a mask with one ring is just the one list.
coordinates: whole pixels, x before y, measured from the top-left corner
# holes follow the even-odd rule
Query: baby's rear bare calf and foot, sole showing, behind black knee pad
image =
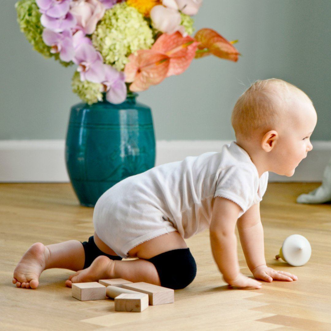
[(69, 240), (44, 246), (33, 244), (23, 255), (14, 270), (13, 283), (17, 287), (37, 288), (39, 276), (45, 269), (65, 268), (80, 270), (84, 266), (85, 253), (81, 242)]

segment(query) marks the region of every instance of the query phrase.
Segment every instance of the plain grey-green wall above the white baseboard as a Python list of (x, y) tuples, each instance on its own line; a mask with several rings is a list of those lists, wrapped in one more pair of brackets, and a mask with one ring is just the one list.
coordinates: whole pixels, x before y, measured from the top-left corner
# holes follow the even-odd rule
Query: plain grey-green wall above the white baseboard
[[(15, 1), (1, 3), (0, 139), (63, 139), (74, 68), (44, 59), (20, 32)], [(256, 79), (279, 77), (313, 100), (313, 140), (331, 140), (330, 0), (205, 0), (196, 30), (211, 27), (236, 44), (237, 63), (206, 57), (141, 92), (157, 139), (233, 139), (231, 110)]]

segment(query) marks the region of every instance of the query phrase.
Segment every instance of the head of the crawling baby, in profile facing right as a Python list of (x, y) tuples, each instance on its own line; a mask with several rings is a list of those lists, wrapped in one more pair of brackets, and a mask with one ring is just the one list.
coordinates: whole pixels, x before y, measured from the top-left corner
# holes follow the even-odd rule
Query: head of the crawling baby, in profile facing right
[(312, 150), (309, 137), (316, 122), (307, 94), (277, 78), (254, 82), (239, 97), (231, 116), (237, 143), (265, 171), (286, 176), (292, 176)]

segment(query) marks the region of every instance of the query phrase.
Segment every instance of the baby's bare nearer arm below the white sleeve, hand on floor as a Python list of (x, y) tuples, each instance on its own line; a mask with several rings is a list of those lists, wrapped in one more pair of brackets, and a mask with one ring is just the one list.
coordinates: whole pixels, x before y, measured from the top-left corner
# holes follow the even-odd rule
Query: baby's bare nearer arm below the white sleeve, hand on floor
[(240, 207), (231, 200), (216, 197), (210, 225), (213, 257), (223, 279), (236, 287), (260, 288), (261, 284), (239, 271), (235, 226)]

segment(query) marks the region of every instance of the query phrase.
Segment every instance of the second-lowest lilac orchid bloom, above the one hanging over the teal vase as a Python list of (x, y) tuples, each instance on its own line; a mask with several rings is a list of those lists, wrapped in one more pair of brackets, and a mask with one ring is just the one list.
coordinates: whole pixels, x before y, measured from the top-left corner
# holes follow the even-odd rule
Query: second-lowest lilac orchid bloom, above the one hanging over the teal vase
[(86, 43), (78, 46), (73, 62), (78, 65), (81, 81), (101, 83), (105, 80), (102, 56), (93, 46)]

